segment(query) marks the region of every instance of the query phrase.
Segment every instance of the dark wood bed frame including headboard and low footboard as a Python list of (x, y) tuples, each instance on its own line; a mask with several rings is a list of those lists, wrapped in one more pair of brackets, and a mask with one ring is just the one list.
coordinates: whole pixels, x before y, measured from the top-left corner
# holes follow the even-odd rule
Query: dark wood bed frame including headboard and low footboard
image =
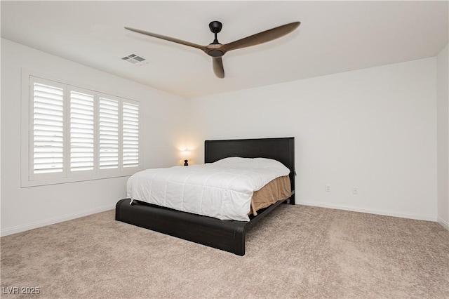
[[(295, 139), (263, 138), (239, 140), (206, 140), (204, 162), (212, 163), (226, 157), (269, 158), (280, 161), (290, 169), (291, 197), (257, 211), (249, 222), (219, 220), (203, 215), (175, 211), (142, 201), (121, 199), (116, 204), (115, 219), (173, 237), (194, 241), (213, 248), (245, 254), (245, 235), (256, 222), (279, 204), (295, 204)], [(188, 166), (186, 166), (188, 167)]]

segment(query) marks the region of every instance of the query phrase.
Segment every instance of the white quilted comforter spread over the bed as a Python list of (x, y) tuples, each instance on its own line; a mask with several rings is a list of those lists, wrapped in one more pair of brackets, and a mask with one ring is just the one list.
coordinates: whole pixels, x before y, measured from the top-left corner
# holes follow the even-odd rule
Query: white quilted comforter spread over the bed
[(272, 159), (231, 157), (140, 171), (128, 179), (127, 196), (222, 220), (249, 221), (253, 192), (288, 173), (286, 166)]

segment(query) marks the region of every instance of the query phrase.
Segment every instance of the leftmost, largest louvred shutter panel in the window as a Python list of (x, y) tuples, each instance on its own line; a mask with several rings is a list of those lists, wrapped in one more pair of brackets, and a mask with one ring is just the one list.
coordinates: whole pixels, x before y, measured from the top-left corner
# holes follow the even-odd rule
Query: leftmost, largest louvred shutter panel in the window
[(64, 171), (64, 88), (52, 85), (34, 81), (32, 86), (34, 174)]

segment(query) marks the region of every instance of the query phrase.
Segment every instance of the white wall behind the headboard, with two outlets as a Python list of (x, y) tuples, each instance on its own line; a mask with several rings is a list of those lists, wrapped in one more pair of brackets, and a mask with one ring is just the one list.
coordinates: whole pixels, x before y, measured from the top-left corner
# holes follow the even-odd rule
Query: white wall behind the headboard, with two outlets
[(207, 139), (294, 136), (297, 204), (435, 221), (435, 86), (427, 58), (196, 98), (192, 160)]

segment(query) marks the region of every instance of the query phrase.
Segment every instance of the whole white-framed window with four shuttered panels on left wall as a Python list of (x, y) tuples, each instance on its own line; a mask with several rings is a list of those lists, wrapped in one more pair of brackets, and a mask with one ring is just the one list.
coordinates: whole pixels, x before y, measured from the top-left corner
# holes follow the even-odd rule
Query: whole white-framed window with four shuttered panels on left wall
[(27, 106), (28, 175), (22, 185), (139, 170), (139, 102), (29, 76)]

